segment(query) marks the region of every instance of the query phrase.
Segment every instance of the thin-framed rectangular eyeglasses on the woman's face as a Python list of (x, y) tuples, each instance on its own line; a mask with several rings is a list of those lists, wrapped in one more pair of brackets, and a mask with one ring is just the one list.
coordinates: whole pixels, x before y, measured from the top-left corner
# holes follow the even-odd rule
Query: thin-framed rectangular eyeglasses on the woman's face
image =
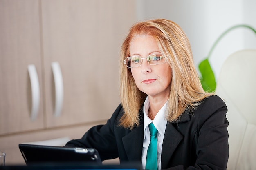
[(142, 59), (147, 59), (148, 64), (150, 65), (158, 65), (158, 64), (164, 64), (166, 62), (165, 57), (163, 57), (162, 54), (153, 54), (153, 55), (148, 55), (146, 58), (141, 58), (138, 56), (131, 56), (127, 57), (124, 60), (124, 64), (128, 68), (135, 68), (141, 66)]

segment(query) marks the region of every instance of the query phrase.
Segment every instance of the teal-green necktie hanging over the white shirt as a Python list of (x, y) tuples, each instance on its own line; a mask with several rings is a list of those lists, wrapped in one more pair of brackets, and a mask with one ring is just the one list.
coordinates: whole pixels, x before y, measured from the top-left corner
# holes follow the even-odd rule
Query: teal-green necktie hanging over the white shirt
[(148, 125), (150, 131), (150, 143), (148, 146), (146, 170), (157, 170), (157, 129), (154, 124)]

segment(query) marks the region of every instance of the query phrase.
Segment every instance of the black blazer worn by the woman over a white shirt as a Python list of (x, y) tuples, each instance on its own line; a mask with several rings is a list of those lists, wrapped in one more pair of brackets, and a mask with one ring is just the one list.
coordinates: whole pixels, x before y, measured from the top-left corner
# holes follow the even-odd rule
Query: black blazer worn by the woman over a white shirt
[[(167, 123), (162, 145), (161, 169), (224, 170), (227, 167), (227, 107), (220, 97), (207, 97), (193, 112)], [(124, 114), (119, 105), (105, 125), (94, 126), (81, 139), (66, 146), (96, 148), (102, 160), (119, 157), (120, 163), (141, 162), (143, 111), (140, 126), (129, 130), (119, 126)]]

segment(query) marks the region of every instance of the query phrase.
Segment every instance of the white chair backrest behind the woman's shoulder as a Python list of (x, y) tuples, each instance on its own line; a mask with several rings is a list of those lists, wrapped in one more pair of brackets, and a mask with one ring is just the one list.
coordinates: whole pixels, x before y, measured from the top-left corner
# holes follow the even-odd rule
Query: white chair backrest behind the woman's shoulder
[(227, 170), (256, 170), (256, 50), (242, 50), (224, 62), (216, 95), (227, 104)]

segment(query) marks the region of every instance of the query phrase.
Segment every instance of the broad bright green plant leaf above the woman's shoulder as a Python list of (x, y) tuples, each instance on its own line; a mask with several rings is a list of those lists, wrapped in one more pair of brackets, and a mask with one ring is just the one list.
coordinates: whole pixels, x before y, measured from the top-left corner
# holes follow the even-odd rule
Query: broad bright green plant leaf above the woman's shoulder
[(208, 59), (203, 60), (199, 64), (199, 71), (202, 75), (200, 78), (202, 87), (204, 88), (204, 91), (213, 92), (216, 88), (216, 81), (215, 76), (213, 73), (213, 70), (211, 69), (211, 65), (209, 63)]

